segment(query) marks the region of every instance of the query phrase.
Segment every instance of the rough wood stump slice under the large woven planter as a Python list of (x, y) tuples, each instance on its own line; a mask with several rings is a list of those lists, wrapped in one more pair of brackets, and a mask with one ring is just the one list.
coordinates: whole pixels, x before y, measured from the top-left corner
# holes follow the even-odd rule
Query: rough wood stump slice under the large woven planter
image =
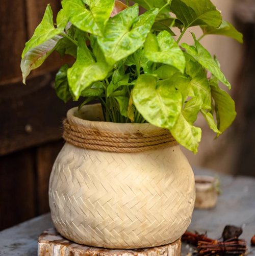
[(180, 256), (181, 239), (145, 249), (105, 249), (76, 244), (62, 237), (55, 228), (44, 231), (38, 240), (38, 256)]

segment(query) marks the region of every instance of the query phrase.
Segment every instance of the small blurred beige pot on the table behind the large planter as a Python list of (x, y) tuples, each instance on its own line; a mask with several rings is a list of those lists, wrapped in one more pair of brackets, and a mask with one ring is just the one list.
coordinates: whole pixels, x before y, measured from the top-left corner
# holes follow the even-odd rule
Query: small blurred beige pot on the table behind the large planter
[(210, 176), (195, 176), (195, 208), (210, 209), (215, 207), (218, 199), (218, 180)]

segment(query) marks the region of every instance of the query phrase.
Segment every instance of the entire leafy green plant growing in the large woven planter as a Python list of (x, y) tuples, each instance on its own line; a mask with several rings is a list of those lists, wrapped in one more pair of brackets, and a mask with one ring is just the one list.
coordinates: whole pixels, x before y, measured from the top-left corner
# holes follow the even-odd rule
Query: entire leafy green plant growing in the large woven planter
[[(235, 120), (235, 103), (219, 81), (231, 88), (202, 37), (214, 34), (242, 42), (242, 34), (222, 20), (210, 0), (63, 0), (54, 24), (48, 5), (33, 37), (25, 44), (23, 82), (53, 52), (73, 56), (56, 76), (56, 92), (67, 102), (101, 102), (105, 120), (167, 128), (187, 149), (197, 152), (199, 112), (217, 137)], [(139, 6), (147, 11), (139, 15)], [(203, 35), (182, 43), (190, 27)], [(180, 29), (175, 37), (173, 27)], [(208, 79), (208, 74), (211, 78)], [(216, 122), (214, 119), (216, 117)]]

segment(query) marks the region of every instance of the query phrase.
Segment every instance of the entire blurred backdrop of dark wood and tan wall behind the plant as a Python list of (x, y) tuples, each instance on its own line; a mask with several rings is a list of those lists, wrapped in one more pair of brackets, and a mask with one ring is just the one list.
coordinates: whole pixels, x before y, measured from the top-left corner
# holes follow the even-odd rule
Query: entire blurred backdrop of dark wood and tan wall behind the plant
[[(197, 155), (184, 153), (193, 167), (255, 176), (255, 1), (212, 0), (225, 20), (244, 34), (244, 44), (231, 38), (201, 40), (215, 54), (232, 84), (237, 119), (219, 139), (201, 117), (202, 141)], [(40, 23), (46, 5), (55, 14), (61, 0), (1, 0), (0, 7), (0, 230), (47, 213), (48, 180), (64, 141), (62, 120), (77, 102), (64, 104), (55, 94), (57, 69), (71, 58), (50, 56), (22, 84), (20, 61), (24, 44)], [(190, 29), (198, 36), (199, 28)], [(183, 41), (193, 44), (191, 35)], [(223, 89), (226, 87), (222, 86)]]

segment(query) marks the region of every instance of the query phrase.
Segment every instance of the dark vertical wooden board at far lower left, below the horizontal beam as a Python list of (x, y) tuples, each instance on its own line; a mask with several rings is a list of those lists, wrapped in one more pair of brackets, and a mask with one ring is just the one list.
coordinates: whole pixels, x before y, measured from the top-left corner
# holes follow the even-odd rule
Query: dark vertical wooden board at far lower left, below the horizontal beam
[(0, 158), (0, 230), (36, 216), (34, 178), (33, 149)]

